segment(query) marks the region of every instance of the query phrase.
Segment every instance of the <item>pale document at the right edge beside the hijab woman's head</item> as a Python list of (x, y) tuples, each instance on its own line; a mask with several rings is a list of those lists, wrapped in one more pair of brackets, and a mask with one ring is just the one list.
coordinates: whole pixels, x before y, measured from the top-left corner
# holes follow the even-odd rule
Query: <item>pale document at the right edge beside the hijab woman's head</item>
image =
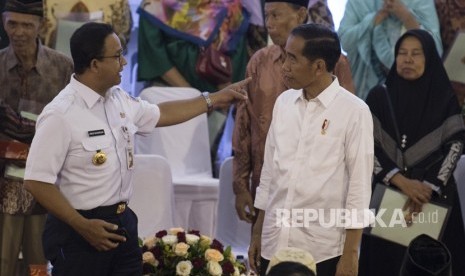
[(444, 67), (451, 81), (465, 83), (465, 32), (458, 32), (444, 59)]

